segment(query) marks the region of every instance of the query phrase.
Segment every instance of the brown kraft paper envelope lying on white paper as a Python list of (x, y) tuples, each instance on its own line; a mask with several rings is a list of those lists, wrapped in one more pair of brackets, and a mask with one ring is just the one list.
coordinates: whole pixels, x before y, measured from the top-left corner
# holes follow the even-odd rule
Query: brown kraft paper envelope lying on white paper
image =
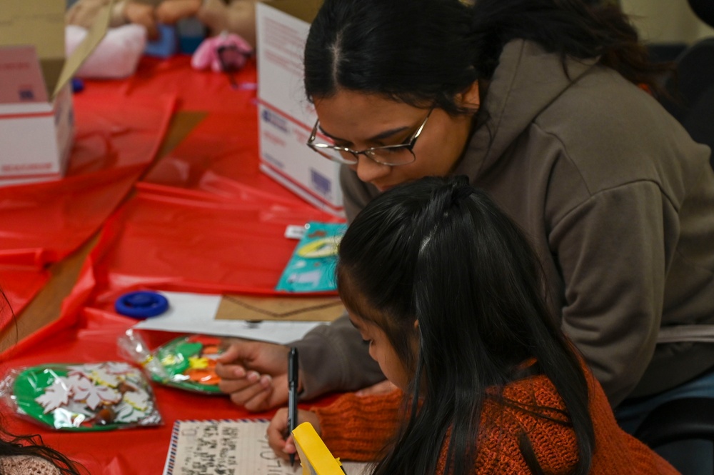
[(333, 321), (345, 311), (340, 298), (224, 295), (216, 320)]

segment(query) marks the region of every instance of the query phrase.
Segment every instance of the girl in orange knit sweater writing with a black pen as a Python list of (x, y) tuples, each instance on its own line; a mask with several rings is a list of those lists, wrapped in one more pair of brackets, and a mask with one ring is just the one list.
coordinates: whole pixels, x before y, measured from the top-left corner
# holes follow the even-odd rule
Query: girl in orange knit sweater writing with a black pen
[[(678, 473), (618, 427), (543, 301), (535, 253), (466, 177), (371, 201), (337, 276), (351, 323), (403, 393), (301, 411), (334, 456), (381, 459), (373, 473), (388, 475)], [(285, 429), (281, 410), (268, 437), (283, 457), (295, 450)]]

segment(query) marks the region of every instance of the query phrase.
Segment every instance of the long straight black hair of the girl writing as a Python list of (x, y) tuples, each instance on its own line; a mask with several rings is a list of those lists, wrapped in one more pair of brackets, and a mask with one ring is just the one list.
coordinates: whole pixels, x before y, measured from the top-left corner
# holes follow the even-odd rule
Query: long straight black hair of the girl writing
[[(411, 404), (376, 474), (434, 473), (445, 444), (447, 473), (473, 473), (487, 398), (558, 421), (548, 416), (555, 408), (525, 408), (494, 394), (522, 377), (518, 369), (532, 358), (567, 408), (569, 422), (558, 422), (575, 431), (575, 473), (588, 473), (588, 385), (545, 303), (540, 261), (516, 224), (465, 176), (427, 177), (373, 199), (341, 241), (337, 275), (346, 307), (383, 329), (413, 376), (411, 401), (422, 401), (419, 409)], [(528, 434), (518, 436), (540, 473)]]

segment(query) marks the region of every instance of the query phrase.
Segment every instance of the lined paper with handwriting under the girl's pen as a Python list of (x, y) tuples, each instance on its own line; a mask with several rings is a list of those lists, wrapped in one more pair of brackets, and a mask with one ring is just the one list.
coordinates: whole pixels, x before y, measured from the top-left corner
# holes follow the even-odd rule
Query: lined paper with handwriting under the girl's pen
[[(263, 420), (176, 421), (164, 475), (299, 475), (298, 463), (278, 459)], [(347, 475), (365, 475), (367, 464), (343, 463)]]

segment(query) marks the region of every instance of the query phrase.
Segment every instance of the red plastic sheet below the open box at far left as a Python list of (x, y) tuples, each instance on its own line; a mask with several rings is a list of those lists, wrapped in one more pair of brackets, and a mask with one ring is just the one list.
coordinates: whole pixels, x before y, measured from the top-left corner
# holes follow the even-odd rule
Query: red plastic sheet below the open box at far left
[[(18, 314), (46, 283), (46, 265), (81, 246), (154, 159), (171, 94), (79, 94), (67, 178), (0, 188), (0, 286)], [(0, 329), (8, 323), (0, 321)]]

